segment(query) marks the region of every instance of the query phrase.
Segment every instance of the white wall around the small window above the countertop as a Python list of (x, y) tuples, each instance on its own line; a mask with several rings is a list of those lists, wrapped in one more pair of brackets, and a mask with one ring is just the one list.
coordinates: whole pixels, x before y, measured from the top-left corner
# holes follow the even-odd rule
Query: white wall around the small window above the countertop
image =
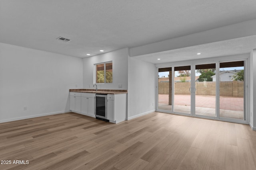
[[(86, 57), (83, 59), (83, 84), (86, 89), (95, 89), (94, 64), (113, 62), (113, 83), (98, 84), (98, 89), (114, 89), (114, 90), (127, 90), (128, 87), (128, 48), (103, 53), (100, 55)], [(95, 74), (95, 75), (94, 75)], [(93, 76), (94, 75), (94, 76)], [(95, 78), (96, 79), (96, 78)], [(122, 88), (118, 88), (118, 84), (122, 84)]]

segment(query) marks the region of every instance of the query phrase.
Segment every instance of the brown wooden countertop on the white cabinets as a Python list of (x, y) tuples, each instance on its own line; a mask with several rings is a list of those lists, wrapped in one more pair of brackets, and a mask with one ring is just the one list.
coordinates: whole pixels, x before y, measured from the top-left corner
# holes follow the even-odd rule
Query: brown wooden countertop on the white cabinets
[(108, 90), (100, 89), (96, 91), (95, 89), (70, 89), (69, 92), (82, 92), (82, 93), (97, 93), (97, 94), (127, 94), (127, 90)]

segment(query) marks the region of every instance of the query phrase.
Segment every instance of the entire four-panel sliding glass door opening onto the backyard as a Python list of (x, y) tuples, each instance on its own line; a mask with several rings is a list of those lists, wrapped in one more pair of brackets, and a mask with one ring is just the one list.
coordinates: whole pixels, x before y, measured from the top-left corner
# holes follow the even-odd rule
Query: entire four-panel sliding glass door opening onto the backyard
[(246, 122), (245, 60), (158, 68), (157, 110)]

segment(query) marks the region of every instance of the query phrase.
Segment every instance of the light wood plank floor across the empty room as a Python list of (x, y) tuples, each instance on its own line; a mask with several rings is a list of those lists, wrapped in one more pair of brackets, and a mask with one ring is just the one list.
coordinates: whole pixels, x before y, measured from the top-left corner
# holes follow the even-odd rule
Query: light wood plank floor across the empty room
[(249, 125), (150, 113), (119, 124), (76, 113), (0, 123), (0, 169), (255, 170)]

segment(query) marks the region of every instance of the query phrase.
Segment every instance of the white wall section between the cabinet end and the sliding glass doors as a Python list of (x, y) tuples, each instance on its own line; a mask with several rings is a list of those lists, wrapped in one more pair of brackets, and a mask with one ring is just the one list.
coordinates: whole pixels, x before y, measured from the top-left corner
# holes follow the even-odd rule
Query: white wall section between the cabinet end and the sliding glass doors
[(129, 57), (128, 119), (155, 111), (156, 67)]

